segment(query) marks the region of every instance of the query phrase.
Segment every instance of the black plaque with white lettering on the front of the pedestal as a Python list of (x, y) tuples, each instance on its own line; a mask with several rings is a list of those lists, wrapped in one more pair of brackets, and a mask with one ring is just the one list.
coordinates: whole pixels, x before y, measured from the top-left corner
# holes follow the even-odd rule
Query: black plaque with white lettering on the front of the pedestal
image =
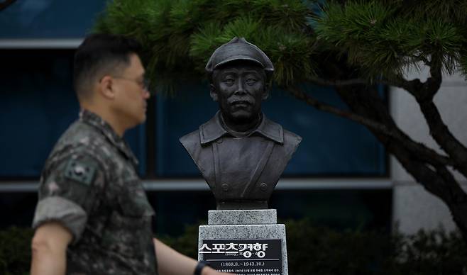
[(199, 253), (218, 271), (282, 275), (282, 240), (203, 240)]

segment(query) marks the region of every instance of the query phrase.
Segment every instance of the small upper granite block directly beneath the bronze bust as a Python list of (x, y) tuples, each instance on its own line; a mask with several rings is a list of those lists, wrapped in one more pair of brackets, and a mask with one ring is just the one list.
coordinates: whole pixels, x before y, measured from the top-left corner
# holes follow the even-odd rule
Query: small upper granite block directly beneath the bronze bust
[(261, 210), (211, 210), (208, 225), (267, 225), (278, 223), (278, 211)]

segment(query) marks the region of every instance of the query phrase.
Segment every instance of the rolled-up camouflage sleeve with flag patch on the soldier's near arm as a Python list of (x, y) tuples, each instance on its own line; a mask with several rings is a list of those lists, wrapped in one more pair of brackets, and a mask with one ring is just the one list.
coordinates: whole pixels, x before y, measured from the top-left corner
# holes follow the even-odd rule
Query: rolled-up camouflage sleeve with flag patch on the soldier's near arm
[(72, 232), (73, 243), (76, 243), (103, 190), (103, 169), (97, 159), (82, 153), (48, 166), (51, 168), (43, 173), (40, 181), (33, 228), (58, 221)]

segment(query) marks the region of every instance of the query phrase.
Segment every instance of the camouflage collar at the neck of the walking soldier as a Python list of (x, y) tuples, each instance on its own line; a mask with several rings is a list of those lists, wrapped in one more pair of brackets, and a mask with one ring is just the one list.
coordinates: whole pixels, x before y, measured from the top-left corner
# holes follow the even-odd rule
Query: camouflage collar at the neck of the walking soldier
[(104, 119), (102, 119), (100, 116), (97, 116), (97, 114), (92, 113), (91, 111), (82, 110), (79, 112), (79, 120), (97, 128), (97, 130), (99, 130), (107, 138), (107, 140), (111, 142), (111, 144), (113, 144), (123, 153), (123, 155), (125, 155), (128, 159), (130, 159), (131, 162), (133, 162), (135, 167), (138, 166), (138, 159), (135, 157), (135, 155), (133, 155), (133, 152), (131, 152), (131, 149), (126, 141), (117, 135), (111, 125)]

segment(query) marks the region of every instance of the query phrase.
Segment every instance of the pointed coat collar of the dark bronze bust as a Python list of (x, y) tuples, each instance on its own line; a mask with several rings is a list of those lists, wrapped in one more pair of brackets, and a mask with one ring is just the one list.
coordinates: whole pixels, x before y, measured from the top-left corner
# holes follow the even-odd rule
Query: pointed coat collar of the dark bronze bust
[[(218, 111), (216, 115), (211, 118), (207, 123), (199, 126), (200, 141), (201, 145), (207, 145), (214, 140), (217, 140), (224, 135), (231, 135), (228, 130), (222, 127), (221, 123), (221, 112)], [(265, 138), (273, 140), (274, 142), (279, 143), (280, 145), (284, 144), (284, 133), (282, 126), (278, 123), (269, 120), (262, 115), (261, 123), (258, 125), (256, 130), (253, 130), (250, 135), (255, 133), (262, 135)]]

